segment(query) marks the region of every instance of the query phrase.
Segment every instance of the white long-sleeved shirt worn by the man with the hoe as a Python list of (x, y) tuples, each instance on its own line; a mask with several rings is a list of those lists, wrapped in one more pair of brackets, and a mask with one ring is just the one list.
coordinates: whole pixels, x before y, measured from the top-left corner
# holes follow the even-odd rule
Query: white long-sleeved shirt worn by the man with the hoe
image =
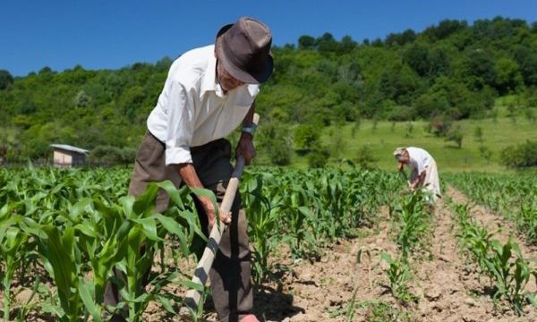
[(217, 83), (214, 46), (193, 49), (170, 67), (148, 129), (166, 143), (166, 165), (192, 163), (191, 147), (226, 137), (243, 122), (259, 85), (224, 91)]

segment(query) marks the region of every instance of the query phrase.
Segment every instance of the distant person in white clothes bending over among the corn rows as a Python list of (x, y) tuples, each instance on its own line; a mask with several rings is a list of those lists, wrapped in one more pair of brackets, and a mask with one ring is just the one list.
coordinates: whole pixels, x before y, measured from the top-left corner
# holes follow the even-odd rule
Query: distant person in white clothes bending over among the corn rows
[(424, 187), (431, 192), (433, 202), (441, 196), (439, 171), (429, 152), (423, 148), (396, 148), (394, 156), (398, 161), (397, 169), (399, 171), (403, 171), (404, 165), (411, 169), (409, 183), (411, 190)]

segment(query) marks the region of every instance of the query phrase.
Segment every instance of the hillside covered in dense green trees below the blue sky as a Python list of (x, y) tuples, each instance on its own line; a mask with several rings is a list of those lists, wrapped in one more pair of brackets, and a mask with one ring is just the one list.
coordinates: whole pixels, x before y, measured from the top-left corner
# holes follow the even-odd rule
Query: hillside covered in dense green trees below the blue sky
[[(281, 143), (273, 147), (291, 144), (289, 124), (318, 130), (360, 118), (482, 118), (496, 113), (496, 97), (509, 94), (517, 97), (512, 113), (537, 106), (533, 21), (440, 21), (422, 32), (362, 41), (304, 35), (296, 45), (274, 47), (273, 55), (275, 72), (257, 102), (265, 140)], [(0, 157), (46, 157), (53, 142), (135, 148), (171, 63), (165, 57), (115, 71), (44, 67), (21, 78), (0, 71)]]

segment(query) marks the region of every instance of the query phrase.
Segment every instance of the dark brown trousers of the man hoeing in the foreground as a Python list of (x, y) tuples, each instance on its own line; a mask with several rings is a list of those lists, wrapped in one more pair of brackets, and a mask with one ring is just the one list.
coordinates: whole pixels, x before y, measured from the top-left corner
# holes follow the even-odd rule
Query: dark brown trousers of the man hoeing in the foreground
[[(230, 164), (231, 144), (220, 139), (200, 147), (191, 148), (192, 163), (203, 186), (213, 191), (218, 204), (222, 202), (227, 182), (233, 173)], [(149, 182), (170, 180), (178, 187), (181, 177), (172, 166), (165, 164), (165, 145), (149, 131), (138, 150), (132, 171), (129, 194), (139, 196)], [(232, 207), (232, 222), (222, 235), (217, 256), (209, 272), (210, 290), (218, 318), (223, 322), (236, 322), (251, 313), (253, 295), (251, 291), (251, 252), (248, 247), (246, 216), (241, 209), (237, 193)], [(194, 198), (200, 214), (203, 233), (209, 235), (208, 219), (200, 203)], [(158, 192), (157, 211), (164, 213), (169, 197), (165, 191)], [(199, 256), (200, 258), (200, 256)], [(115, 269), (115, 277), (124, 281), (123, 274)], [(144, 283), (145, 284), (145, 283)], [(116, 305), (121, 301), (117, 285), (109, 282), (105, 290), (105, 304)], [(116, 314), (112, 321), (124, 321)]]

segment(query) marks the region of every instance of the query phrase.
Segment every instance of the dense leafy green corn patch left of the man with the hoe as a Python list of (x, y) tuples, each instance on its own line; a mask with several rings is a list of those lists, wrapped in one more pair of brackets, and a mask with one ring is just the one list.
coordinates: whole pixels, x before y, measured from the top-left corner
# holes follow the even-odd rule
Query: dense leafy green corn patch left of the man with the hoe
[[(117, 309), (129, 309), (131, 320), (140, 320), (151, 300), (174, 311), (170, 300), (179, 303), (180, 299), (161, 291), (166, 284), (181, 284), (190, 277), (169, 271), (149, 274), (152, 291), (145, 293), (141, 275), (149, 271), (152, 254), (164, 249), (165, 236), (177, 240), (180, 247), (174, 250), (175, 255), (182, 252), (183, 257), (189, 255), (192, 236), (202, 236), (192, 207), (192, 191), (177, 191), (171, 182), (163, 182), (149, 185), (139, 199), (118, 200), (126, 192), (126, 171), (107, 175), (105, 171), (80, 169), (29, 169), (11, 179), (4, 174), (0, 170), (0, 273), (5, 320), (10, 318), (13, 275), (23, 280), (31, 267), (22, 264), (33, 253), (38, 254), (38, 265), (55, 284), (54, 292), (41, 294), (45, 298), (39, 307), (57, 320), (91, 316), (100, 321), (105, 309), (104, 286), (111, 278), (112, 267), (127, 277), (128, 283), (121, 291), (125, 301)], [(165, 215), (152, 211), (158, 189), (167, 191), (172, 199)], [(34, 293), (38, 292), (37, 286), (33, 287)], [(20, 309), (20, 319), (24, 319), (28, 304)]]

